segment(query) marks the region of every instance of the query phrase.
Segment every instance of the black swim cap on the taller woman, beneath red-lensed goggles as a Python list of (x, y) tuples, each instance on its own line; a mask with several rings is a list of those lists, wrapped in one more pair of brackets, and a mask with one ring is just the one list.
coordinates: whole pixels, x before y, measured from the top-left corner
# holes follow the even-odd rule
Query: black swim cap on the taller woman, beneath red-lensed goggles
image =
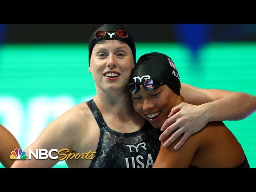
[[(100, 42), (94, 39), (95, 38), (95, 33), (97, 31), (106, 31), (109, 32), (110, 34), (118, 31), (118, 30), (125, 30), (127, 32), (127, 30), (124, 28), (124, 26), (122, 25), (118, 25), (118, 24), (104, 24), (102, 26), (100, 26), (96, 31), (94, 31), (94, 33), (92, 34), (92, 36), (90, 37), (89, 40), (89, 66), (90, 66), (90, 59), (91, 59), (91, 55), (92, 55), (92, 49), (94, 48), (94, 46)], [(128, 33), (128, 32), (127, 32)], [(135, 48), (135, 40), (134, 38), (128, 33), (128, 37), (127, 38), (115, 38), (115, 36), (111, 36), (108, 35), (107, 38), (104, 38), (103, 40), (120, 40), (122, 42), (125, 42), (126, 44), (128, 44), (128, 46), (131, 48), (132, 50), (132, 55), (134, 58), (134, 64), (136, 64), (136, 48)]]

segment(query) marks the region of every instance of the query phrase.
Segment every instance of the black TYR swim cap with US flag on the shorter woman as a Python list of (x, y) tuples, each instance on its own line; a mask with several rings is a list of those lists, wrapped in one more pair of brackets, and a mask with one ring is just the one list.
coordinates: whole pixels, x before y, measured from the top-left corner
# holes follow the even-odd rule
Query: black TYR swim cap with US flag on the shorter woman
[(152, 52), (142, 55), (132, 70), (131, 82), (144, 82), (156, 79), (166, 82), (166, 85), (177, 95), (180, 95), (180, 77), (177, 68), (170, 57)]

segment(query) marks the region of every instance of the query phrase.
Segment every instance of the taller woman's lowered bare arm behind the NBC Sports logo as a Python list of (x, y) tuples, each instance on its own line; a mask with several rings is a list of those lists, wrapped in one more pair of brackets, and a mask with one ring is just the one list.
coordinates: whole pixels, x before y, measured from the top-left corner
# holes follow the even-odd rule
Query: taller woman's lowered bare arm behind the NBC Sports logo
[[(35, 153), (36, 149), (47, 149), (49, 152), (51, 149), (61, 150), (63, 148), (68, 148), (71, 152), (74, 142), (72, 136), (76, 129), (74, 120), (76, 120), (76, 117), (75, 113), (72, 111), (68, 111), (53, 120), (46, 126), (38, 138), (25, 149), (27, 157), (28, 149), (31, 149)], [(52, 156), (59, 155), (56, 152), (53, 152)], [(56, 160), (50, 158), (46, 160), (37, 160), (32, 155), (31, 157), (31, 160), (16, 160), (11, 168), (51, 168), (59, 161), (59, 158)]]

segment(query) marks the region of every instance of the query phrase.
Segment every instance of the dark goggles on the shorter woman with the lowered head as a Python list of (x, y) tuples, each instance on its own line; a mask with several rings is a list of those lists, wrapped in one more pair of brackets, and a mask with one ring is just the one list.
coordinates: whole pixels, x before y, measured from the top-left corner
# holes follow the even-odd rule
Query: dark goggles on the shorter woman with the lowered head
[(165, 85), (166, 83), (162, 80), (147, 79), (143, 83), (132, 82), (128, 84), (128, 88), (131, 94), (137, 93), (140, 90), (140, 85), (143, 85), (146, 90), (155, 90), (156, 88)]

